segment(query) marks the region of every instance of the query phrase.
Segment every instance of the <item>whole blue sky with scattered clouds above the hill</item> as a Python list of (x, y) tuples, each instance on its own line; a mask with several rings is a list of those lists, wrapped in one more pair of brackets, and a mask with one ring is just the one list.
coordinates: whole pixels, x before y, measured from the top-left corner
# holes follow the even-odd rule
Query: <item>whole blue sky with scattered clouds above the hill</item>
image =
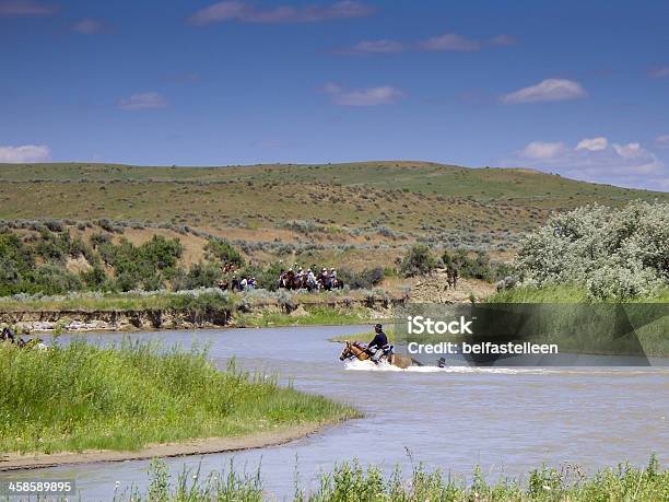
[(0, 0), (0, 162), (427, 160), (669, 190), (669, 3)]

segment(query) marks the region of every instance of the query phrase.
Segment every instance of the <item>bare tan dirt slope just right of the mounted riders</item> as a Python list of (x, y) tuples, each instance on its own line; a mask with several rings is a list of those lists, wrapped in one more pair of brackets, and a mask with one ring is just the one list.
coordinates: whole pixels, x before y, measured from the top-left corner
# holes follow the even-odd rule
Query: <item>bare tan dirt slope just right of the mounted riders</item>
[(495, 285), (478, 279), (458, 279), (457, 288), (453, 289), (446, 280), (446, 270), (439, 269), (429, 277), (422, 277), (411, 288), (412, 303), (461, 303), (469, 302), (470, 294), (477, 300), (490, 296), (495, 292)]

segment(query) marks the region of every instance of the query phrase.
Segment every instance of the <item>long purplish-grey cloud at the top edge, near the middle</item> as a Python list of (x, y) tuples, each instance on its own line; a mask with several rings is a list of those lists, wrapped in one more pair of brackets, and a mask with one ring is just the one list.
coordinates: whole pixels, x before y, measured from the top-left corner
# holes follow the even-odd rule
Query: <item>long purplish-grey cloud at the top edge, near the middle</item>
[(189, 19), (195, 25), (239, 21), (244, 23), (315, 23), (337, 19), (363, 17), (374, 9), (354, 1), (343, 0), (329, 5), (278, 5), (257, 9), (238, 0), (222, 1), (197, 11)]

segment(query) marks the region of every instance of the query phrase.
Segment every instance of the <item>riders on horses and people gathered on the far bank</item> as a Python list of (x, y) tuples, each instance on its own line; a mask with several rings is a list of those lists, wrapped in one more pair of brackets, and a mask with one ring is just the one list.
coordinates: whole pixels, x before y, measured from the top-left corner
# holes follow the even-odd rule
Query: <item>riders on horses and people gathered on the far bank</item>
[[(281, 270), (277, 281), (279, 289), (286, 290), (307, 290), (307, 291), (331, 291), (333, 289), (342, 289), (343, 282), (337, 277), (337, 270), (331, 268), (322, 268), (320, 273), (314, 273), (314, 270), (295, 266), (287, 270)], [(219, 288), (222, 290), (246, 291), (255, 290), (258, 287), (256, 278), (253, 276), (233, 276), (231, 281), (222, 280), (219, 282)]]

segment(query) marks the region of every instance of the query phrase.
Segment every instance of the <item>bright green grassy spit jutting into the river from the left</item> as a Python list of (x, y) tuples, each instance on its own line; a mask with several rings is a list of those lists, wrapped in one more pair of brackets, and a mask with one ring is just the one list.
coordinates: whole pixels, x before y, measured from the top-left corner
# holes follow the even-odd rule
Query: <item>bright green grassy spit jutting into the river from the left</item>
[(132, 451), (357, 416), (275, 378), (218, 371), (203, 350), (129, 341), (47, 351), (0, 345), (0, 452)]

